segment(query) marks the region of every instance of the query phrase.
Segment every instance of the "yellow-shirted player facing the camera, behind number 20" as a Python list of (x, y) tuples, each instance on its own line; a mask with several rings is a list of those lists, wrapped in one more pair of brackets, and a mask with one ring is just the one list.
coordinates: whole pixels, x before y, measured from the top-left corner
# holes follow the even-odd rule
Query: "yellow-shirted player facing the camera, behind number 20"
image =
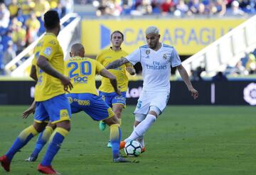
[[(99, 61), (103, 66), (107, 66), (110, 62), (114, 60), (118, 60), (120, 57), (127, 56), (127, 52), (122, 50), (121, 45), (124, 41), (124, 35), (119, 30), (115, 30), (111, 36), (111, 43), (112, 47), (102, 50), (100, 54), (97, 56), (96, 60)], [(117, 86), (121, 91), (121, 96), (114, 92), (113, 87), (110, 84), (110, 80), (102, 77), (102, 84), (100, 85), (99, 91), (100, 96), (102, 99), (105, 100), (108, 106), (112, 107), (115, 115), (119, 118), (121, 124), (121, 113), (122, 108), (125, 108), (125, 101), (126, 101), (126, 92), (128, 87), (128, 77), (126, 74), (133, 75), (135, 74), (135, 69), (133, 68), (132, 64), (124, 64), (116, 69), (110, 69), (109, 71), (117, 77)], [(106, 125), (102, 121), (100, 122), (100, 130), (105, 130)], [(107, 147), (111, 147), (111, 142), (109, 141)]]

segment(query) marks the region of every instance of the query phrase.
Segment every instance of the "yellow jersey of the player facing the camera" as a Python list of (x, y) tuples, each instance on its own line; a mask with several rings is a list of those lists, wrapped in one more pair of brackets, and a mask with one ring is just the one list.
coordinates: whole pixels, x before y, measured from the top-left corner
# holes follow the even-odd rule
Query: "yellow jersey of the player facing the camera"
[[(121, 57), (126, 57), (127, 55), (128, 53), (124, 50), (114, 51), (110, 47), (109, 49), (102, 50), (102, 52), (100, 52), (100, 54), (97, 56), (96, 60), (106, 67), (108, 64), (110, 64), (110, 62), (114, 62), (115, 60), (118, 60)], [(115, 77), (117, 77), (117, 86), (120, 91), (127, 91), (129, 80), (125, 70), (126, 67), (132, 67), (132, 64), (128, 63), (115, 69), (108, 69), (112, 74), (114, 74)], [(99, 90), (106, 93), (114, 92), (110, 79), (102, 77), (102, 84), (100, 85)]]

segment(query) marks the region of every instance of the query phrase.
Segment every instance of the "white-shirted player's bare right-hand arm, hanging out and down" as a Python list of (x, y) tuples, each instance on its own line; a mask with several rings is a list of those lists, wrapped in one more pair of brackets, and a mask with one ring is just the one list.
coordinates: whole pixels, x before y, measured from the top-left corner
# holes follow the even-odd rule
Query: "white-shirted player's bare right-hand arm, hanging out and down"
[(186, 69), (182, 65), (177, 66), (178, 73), (181, 75), (181, 78), (185, 82), (186, 86), (188, 87), (188, 91), (191, 91), (191, 96), (193, 96), (194, 99), (198, 98), (199, 94), (196, 89), (193, 88), (191, 81), (188, 77), (188, 73), (186, 72)]

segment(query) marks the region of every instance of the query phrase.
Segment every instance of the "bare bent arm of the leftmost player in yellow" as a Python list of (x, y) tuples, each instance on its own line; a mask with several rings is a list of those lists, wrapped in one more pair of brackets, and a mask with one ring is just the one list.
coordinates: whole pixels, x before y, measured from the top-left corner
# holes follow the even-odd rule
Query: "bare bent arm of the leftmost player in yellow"
[(68, 91), (68, 89), (71, 90), (73, 88), (73, 85), (70, 82), (70, 78), (65, 77), (63, 74), (60, 74), (60, 72), (55, 70), (50, 65), (46, 57), (43, 57), (42, 55), (40, 55), (38, 57), (36, 64), (38, 65), (38, 67), (40, 67), (43, 70), (43, 72), (46, 72), (46, 74), (50, 74), (51, 76), (57, 79), (60, 79), (61, 83), (64, 85), (65, 91)]

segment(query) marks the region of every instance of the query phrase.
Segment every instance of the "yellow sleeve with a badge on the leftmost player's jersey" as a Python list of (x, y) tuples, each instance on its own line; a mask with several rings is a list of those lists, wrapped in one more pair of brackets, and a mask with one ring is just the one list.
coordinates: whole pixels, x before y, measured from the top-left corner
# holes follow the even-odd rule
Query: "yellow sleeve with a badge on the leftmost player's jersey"
[(53, 55), (55, 55), (55, 52), (58, 51), (58, 45), (59, 45), (58, 40), (56, 40), (55, 38), (51, 40), (46, 40), (43, 43), (43, 47), (39, 55), (46, 57), (47, 60), (50, 61), (53, 58)]

